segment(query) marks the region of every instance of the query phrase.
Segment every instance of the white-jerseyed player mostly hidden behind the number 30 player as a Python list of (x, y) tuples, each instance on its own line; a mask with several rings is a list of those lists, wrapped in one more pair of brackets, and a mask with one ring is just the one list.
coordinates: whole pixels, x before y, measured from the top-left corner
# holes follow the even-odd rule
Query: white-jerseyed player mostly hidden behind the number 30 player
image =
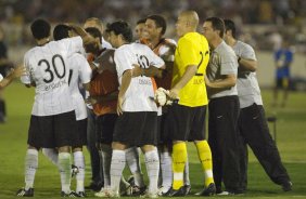
[[(53, 30), (53, 38), (55, 41), (69, 37), (71, 27), (67, 25), (60, 24), (55, 26)], [(72, 31), (71, 31), (72, 32)], [(71, 34), (71, 36), (74, 36)], [(74, 53), (67, 59), (69, 66), (68, 84), (72, 94), (73, 105), (76, 114), (76, 132), (72, 136), (72, 147), (74, 155), (74, 165), (77, 167), (78, 172), (76, 173), (76, 193), (85, 197), (84, 180), (85, 180), (85, 158), (82, 155), (82, 146), (86, 145), (87, 141), (87, 110), (84, 103), (84, 97), (80, 94), (78, 83), (82, 83), (84, 88), (89, 89), (89, 82), (91, 78), (91, 68), (80, 53)], [(43, 148), (44, 154), (55, 165), (58, 165), (58, 151), (53, 148)]]

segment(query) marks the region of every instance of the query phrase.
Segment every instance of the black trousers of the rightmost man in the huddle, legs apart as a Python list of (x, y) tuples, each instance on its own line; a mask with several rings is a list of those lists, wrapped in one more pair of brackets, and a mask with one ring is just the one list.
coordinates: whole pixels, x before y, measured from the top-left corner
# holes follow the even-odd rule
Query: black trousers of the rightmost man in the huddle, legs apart
[(288, 172), (281, 162), (279, 150), (270, 135), (264, 107), (253, 104), (252, 106), (240, 109), (238, 127), (241, 140), (241, 187), (246, 189), (247, 186), (248, 157), (246, 145), (251, 147), (272, 182), (281, 185), (290, 181)]

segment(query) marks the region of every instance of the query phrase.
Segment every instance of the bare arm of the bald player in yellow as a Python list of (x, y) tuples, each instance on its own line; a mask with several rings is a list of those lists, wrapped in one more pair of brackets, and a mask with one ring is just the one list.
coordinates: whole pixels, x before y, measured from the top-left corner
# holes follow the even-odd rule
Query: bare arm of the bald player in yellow
[(191, 78), (196, 74), (196, 65), (188, 65), (180, 80), (170, 90), (169, 96), (171, 98), (178, 98), (179, 91), (191, 80)]

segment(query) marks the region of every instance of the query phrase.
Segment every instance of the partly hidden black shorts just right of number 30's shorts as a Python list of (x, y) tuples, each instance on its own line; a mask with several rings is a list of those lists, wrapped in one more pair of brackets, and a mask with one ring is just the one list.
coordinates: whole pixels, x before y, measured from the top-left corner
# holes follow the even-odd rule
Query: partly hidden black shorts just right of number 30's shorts
[(87, 118), (76, 121), (77, 130), (72, 137), (73, 147), (81, 147), (87, 145)]

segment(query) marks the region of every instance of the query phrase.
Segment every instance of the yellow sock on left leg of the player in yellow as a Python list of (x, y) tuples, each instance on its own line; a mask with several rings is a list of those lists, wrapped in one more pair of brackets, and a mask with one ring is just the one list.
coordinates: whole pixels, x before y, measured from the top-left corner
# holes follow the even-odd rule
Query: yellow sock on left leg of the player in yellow
[(183, 186), (183, 170), (187, 160), (186, 143), (174, 144), (173, 150), (173, 169), (174, 169), (174, 184), (173, 188), (178, 190)]

